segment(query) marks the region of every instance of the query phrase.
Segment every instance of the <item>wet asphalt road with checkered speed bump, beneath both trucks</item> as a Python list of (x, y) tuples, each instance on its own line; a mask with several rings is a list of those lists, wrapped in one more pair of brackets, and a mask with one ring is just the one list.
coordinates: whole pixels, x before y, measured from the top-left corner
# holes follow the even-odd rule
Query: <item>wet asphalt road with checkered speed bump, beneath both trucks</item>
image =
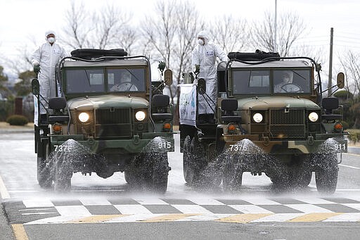
[[(21, 231), (29, 239), (358, 239), (360, 156), (357, 149), (349, 149), (352, 153), (343, 154), (338, 189), (333, 196), (327, 197), (317, 194), (314, 175), (309, 187), (288, 192), (274, 191), (268, 177), (253, 177), (249, 173), (244, 174), (242, 190), (236, 194), (224, 194), (221, 187), (212, 191), (193, 189), (184, 182), (179, 149), (169, 153), (172, 170), (164, 196), (129, 193), (122, 173), (108, 179), (101, 179), (96, 174), (84, 177), (77, 173), (72, 177), (72, 191), (63, 194), (41, 189), (37, 185), (32, 133), (4, 132), (1, 135), (0, 177), (6, 188), (5, 193), (4, 189), (1, 191), (4, 198), (2, 203), (8, 217), (7, 227), (15, 229), (18, 239), (21, 239)], [(176, 135), (178, 138), (179, 134)], [(41, 205), (39, 202), (44, 199), (50, 200)], [(247, 210), (262, 210), (243, 214), (246, 212), (240, 207), (244, 205), (236, 201), (249, 204), (245, 205)], [(295, 204), (300, 201), (311, 204)], [(123, 217), (130, 208), (134, 208), (134, 213), (141, 213), (136, 217), (145, 216), (145, 220), (124, 222)], [(340, 212), (345, 212), (341, 216), (345, 216), (347, 221), (331, 222), (330, 217), (327, 218), (328, 222), (323, 222), (315, 217), (309, 222), (288, 222), (281, 218), (290, 219), (289, 215), (301, 217), (303, 213), (316, 212), (309, 209), (321, 209), (323, 214), (329, 214), (327, 217), (338, 215), (337, 219), (340, 219)], [(204, 211), (203, 215), (192, 215), (201, 210)], [(172, 215), (160, 220), (156, 218), (164, 217), (165, 213)], [(264, 217), (275, 213), (274, 216), (280, 217), (281, 221), (252, 220), (250, 223), (243, 218), (231, 221), (229, 214), (225, 213), (242, 213), (236, 216), (250, 218), (256, 217), (256, 214), (262, 214), (257, 217)], [(183, 221), (181, 217), (184, 214), (193, 217), (193, 220)], [(82, 221), (76, 222), (73, 215), (79, 215), (77, 219), (81, 218)], [(94, 215), (101, 216), (101, 219), (94, 220)], [(58, 217), (57, 220), (54, 217)], [(89, 217), (93, 217), (91, 221)], [(4, 223), (4, 219), (1, 222)], [(3, 229), (8, 231), (8, 235), (3, 234), (0, 239), (9, 239), (9, 228), (2, 224), (0, 229), (1, 233)]]

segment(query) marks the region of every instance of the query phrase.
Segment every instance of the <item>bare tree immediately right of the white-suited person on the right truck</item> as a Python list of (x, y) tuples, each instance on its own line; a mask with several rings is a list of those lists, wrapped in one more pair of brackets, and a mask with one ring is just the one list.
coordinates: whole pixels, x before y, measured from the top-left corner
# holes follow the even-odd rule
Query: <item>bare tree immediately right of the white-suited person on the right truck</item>
[(225, 53), (243, 51), (248, 46), (249, 30), (246, 20), (232, 15), (214, 18), (207, 26), (212, 42), (219, 44)]

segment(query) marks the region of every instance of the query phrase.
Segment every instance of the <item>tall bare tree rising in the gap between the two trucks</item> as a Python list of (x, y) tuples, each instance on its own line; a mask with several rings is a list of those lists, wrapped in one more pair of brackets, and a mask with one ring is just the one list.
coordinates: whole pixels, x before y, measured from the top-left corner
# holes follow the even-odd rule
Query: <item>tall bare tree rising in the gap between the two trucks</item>
[(155, 5), (155, 17), (146, 16), (141, 23), (145, 53), (158, 61), (165, 61), (174, 72), (170, 97), (178, 96), (177, 84), (183, 72), (191, 69), (191, 51), (196, 34), (203, 29), (195, 5), (188, 1), (163, 1)]

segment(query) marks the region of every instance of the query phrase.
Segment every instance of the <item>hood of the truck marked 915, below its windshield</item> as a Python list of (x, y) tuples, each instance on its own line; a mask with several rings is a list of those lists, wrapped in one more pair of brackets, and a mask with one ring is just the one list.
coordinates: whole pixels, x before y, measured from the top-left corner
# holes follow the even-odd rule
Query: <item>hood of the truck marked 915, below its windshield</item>
[(94, 108), (148, 108), (149, 102), (138, 96), (101, 95), (80, 97), (68, 101), (70, 110)]

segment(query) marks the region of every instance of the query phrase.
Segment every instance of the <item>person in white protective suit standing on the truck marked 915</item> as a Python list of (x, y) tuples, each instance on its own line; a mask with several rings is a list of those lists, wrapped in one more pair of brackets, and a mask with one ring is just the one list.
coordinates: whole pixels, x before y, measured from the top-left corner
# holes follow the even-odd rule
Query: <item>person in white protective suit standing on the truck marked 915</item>
[[(46, 42), (39, 46), (37, 50), (32, 53), (32, 65), (34, 71), (39, 68), (38, 80), (40, 84), (40, 94), (44, 98), (40, 97), (41, 103), (47, 108), (49, 99), (57, 95), (58, 89), (56, 89), (55, 79), (55, 66), (61, 58), (65, 57), (65, 50), (63, 47), (56, 44), (56, 34), (54, 31), (49, 30), (45, 32)], [(46, 100), (46, 101), (45, 101)], [(37, 125), (37, 99), (35, 101), (35, 114), (34, 124)], [(46, 109), (40, 104), (41, 119), (46, 119)]]

